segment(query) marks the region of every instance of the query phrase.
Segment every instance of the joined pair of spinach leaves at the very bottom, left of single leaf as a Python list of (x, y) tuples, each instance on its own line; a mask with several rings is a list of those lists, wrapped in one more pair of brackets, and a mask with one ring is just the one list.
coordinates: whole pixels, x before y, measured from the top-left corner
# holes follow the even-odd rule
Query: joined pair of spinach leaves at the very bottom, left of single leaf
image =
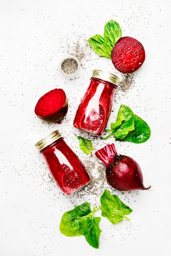
[(65, 236), (84, 236), (94, 248), (99, 247), (100, 217), (94, 217), (95, 211), (100, 208), (93, 209), (91, 211), (90, 204), (85, 202), (76, 206), (73, 210), (67, 211), (63, 214), (60, 222), (60, 232)]

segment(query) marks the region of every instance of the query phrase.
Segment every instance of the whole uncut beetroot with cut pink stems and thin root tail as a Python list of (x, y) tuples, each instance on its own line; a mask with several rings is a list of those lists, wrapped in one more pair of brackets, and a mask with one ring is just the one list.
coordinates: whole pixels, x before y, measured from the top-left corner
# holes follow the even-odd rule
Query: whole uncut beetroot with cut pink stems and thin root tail
[(143, 185), (143, 176), (139, 164), (131, 157), (118, 155), (115, 145), (106, 145), (95, 152), (106, 167), (109, 185), (120, 191), (147, 190)]

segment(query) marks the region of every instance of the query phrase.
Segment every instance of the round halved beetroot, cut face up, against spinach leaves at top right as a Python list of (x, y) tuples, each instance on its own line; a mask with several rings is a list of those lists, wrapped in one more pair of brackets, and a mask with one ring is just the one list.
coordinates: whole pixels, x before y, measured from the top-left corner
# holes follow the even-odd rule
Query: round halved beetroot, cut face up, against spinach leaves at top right
[(145, 60), (144, 47), (133, 37), (121, 37), (113, 47), (111, 60), (118, 71), (122, 73), (134, 72)]

